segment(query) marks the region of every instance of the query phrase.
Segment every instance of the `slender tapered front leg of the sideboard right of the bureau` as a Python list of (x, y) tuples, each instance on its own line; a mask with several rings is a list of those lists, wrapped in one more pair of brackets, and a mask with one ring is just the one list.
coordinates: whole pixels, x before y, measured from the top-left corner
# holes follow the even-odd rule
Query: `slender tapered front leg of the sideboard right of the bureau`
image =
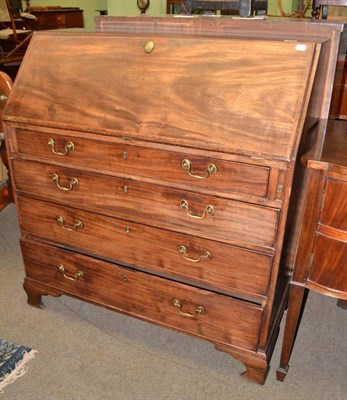
[(276, 371), (276, 377), (279, 381), (284, 381), (288, 369), (289, 359), (292, 354), (293, 345), (297, 333), (297, 328), (302, 311), (302, 304), (304, 300), (305, 288), (295, 284), (290, 285), (288, 312), (286, 319), (286, 326), (284, 330), (284, 338), (282, 344), (280, 365)]

